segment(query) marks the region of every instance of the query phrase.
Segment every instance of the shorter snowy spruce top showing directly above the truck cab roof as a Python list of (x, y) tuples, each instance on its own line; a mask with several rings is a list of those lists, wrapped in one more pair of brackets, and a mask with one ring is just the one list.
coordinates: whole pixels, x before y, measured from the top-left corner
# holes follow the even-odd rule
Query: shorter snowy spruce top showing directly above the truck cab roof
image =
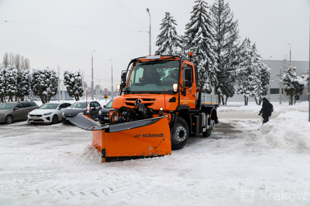
[(165, 13), (165, 18), (162, 19), (162, 32), (157, 36), (156, 46), (159, 48), (155, 55), (179, 55), (183, 48), (182, 36), (178, 35), (175, 26), (175, 19), (170, 16), (169, 12)]

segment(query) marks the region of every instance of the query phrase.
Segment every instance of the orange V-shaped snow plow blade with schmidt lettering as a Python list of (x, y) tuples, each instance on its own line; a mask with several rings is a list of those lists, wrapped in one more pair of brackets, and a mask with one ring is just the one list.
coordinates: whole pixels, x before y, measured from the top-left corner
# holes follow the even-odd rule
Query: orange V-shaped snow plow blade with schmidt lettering
[(170, 128), (164, 117), (101, 125), (80, 114), (69, 121), (93, 131), (92, 145), (101, 151), (102, 162), (171, 155)]

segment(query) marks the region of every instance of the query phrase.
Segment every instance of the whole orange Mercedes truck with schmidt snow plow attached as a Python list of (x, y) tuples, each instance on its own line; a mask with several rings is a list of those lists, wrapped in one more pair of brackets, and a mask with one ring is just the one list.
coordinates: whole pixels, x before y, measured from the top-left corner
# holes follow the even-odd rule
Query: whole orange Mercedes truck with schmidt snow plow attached
[(82, 114), (69, 121), (93, 131), (102, 162), (170, 155), (189, 136), (210, 136), (218, 124), (218, 96), (201, 93), (198, 81), (197, 66), (182, 56), (131, 59), (112, 111), (101, 114), (110, 124)]

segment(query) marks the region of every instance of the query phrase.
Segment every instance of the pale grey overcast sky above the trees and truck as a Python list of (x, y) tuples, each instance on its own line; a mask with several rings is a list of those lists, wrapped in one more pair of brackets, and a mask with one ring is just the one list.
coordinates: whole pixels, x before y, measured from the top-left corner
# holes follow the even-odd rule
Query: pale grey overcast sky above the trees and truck
[[(90, 84), (91, 51), (96, 50), (93, 53), (94, 79), (98, 78), (98, 74), (100, 85), (111, 87), (108, 81), (111, 80), (109, 59), (112, 59), (115, 88), (130, 59), (148, 55), (149, 35), (146, 31), (149, 15), (146, 8), (151, 14), (154, 54), (159, 24), (165, 12), (169, 11), (174, 16), (178, 34), (184, 34), (185, 24), (189, 22), (195, 4), (194, 0), (118, 2), (0, 0), (0, 19), (6, 21), (117, 29), (2, 23), (0, 20), (0, 60), (5, 52), (13, 52), (28, 57), (31, 67), (56, 69), (59, 65), (62, 73), (64, 69), (81, 69)], [(213, 3), (206, 2), (209, 6)], [(290, 43), (292, 60), (309, 61), (309, 0), (233, 0), (229, 6), (239, 22), (240, 40), (249, 37), (252, 43), (256, 42), (263, 59), (272, 56), (271, 59), (282, 60), (283, 55), (289, 58)]]

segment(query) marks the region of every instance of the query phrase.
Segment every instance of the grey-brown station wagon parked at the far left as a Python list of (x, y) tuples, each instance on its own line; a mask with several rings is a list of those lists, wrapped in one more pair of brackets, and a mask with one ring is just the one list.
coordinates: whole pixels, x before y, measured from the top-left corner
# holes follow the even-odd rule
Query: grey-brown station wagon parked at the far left
[(27, 119), (30, 111), (39, 106), (32, 101), (16, 101), (0, 104), (0, 123), (11, 124), (15, 120)]

